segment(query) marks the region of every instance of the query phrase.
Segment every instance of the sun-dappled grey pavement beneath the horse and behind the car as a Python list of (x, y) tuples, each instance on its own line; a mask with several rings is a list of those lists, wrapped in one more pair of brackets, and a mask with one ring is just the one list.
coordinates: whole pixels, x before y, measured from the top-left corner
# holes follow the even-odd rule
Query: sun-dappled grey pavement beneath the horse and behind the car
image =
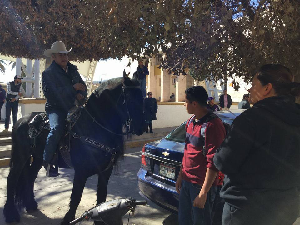
[[(113, 172), (108, 184), (108, 200), (118, 197), (135, 197), (142, 200), (138, 193), (137, 173), (140, 168), (141, 148), (128, 149), (124, 160), (119, 168)], [(3, 206), (6, 200), (6, 178), (9, 168), (0, 169), (0, 224), (5, 224), (2, 217)], [(68, 204), (73, 186), (72, 169), (60, 170), (61, 175), (57, 178), (47, 178), (44, 169), (41, 169), (35, 182), (34, 191), (39, 210), (27, 214), (24, 210), (21, 214), (20, 225), (27, 224), (60, 224), (64, 214), (68, 211)], [(96, 203), (97, 176), (90, 177), (85, 185), (81, 203), (77, 210), (79, 217), (85, 210), (91, 208)], [(177, 225), (177, 216), (163, 210), (152, 202), (150, 207), (138, 206), (134, 217), (131, 217), (129, 224), (163, 224)], [(127, 224), (128, 216), (124, 217), (124, 224)], [(84, 224), (93, 224), (91, 221)]]

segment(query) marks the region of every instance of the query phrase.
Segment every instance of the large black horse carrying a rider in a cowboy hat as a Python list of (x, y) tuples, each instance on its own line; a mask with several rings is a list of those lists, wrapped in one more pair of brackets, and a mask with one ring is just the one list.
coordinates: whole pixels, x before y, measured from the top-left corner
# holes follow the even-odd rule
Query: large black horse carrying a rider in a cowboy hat
[[(112, 155), (115, 153), (116, 162), (124, 154), (124, 126), (129, 133), (137, 135), (143, 134), (146, 127), (139, 82), (126, 77), (125, 71), (123, 78), (109, 80), (97, 88), (89, 97), (85, 109), (72, 131), (79, 136), (97, 140), (116, 151), (107, 154), (99, 148), (84, 144), (79, 138), (71, 138), (70, 153), (75, 174), (70, 209), (63, 218), (63, 225), (74, 219), (88, 177), (98, 174), (97, 204), (106, 201), (108, 179), (113, 170), (113, 167), (109, 167), (112, 165)], [(49, 133), (44, 130), (37, 139), (36, 146), (31, 147), (28, 123), (37, 114), (35, 112), (22, 117), (12, 129), (12, 155), (7, 178), (7, 200), (3, 210), (7, 223), (20, 222), (17, 208), (37, 210), (33, 186), (37, 173), (42, 168), (43, 152)]]

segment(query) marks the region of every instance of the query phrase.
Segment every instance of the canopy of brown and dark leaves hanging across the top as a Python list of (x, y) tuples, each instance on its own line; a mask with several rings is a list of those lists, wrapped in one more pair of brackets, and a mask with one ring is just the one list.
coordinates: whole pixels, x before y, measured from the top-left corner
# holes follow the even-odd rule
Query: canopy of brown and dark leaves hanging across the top
[(154, 54), (170, 73), (192, 69), (199, 80), (249, 82), (266, 63), (300, 69), (299, 0), (10, 0), (0, 8), (4, 55), (43, 58), (62, 40), (72, 60)]

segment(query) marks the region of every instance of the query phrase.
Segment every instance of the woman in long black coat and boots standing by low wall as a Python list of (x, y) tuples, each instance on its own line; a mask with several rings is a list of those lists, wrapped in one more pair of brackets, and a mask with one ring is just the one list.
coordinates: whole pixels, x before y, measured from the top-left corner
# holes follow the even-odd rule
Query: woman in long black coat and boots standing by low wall
[(152, 92), (148, 92), (148, 98), (145, 98), (144, 100), (144, 113), (145, 113), (145, 120), (147, 124), (147, 131), (148, 133), (148, 126), (150, 128), (150, 133), (153, 133), (152, 131), (152, 120), (156, 120), (157, 113), (157, 102), (156, 99), (152, 97)]

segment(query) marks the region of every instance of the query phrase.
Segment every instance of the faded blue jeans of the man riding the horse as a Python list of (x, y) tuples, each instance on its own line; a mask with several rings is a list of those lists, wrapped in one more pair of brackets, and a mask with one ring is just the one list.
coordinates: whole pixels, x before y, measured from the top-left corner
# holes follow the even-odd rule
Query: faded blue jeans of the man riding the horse
[(67, 113), (62, 110), (53, 109), (46, 112), (50, 122), (50, 133), (47, 137), (44, 160), (50, 163), (56, 151), (60, 138), (63, 136)]

